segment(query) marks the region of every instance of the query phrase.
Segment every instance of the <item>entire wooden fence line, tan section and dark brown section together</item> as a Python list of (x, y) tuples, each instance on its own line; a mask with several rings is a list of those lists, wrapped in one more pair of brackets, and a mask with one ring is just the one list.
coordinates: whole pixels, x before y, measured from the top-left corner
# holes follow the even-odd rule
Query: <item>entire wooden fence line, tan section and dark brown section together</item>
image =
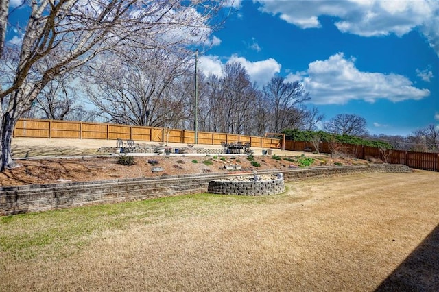
[[(130, 125), (116, 125), (109, 123), (88, 123), (80, 121), (56, 121), (43, 119), (21, 119), (14, 129), (14, 137), (33, 138), (87, 138), (116, 140), (132, 139), (134, 141), (153, 141), (171, 143), (195, 143), (195, 132), (180, 129), (164, 129), (161, 127), (140, 127)], [(198, 143), (220, 145), (221, 142), (250, 142), (252, 147), (281, 148), (282, 141), (277, 138), (263, 138), (238, 134), (215, 132), (198, 132)], [(322, 153), (331, 153), (334, 145), (327, 142), (320, 143)], [(379, 148), (352, 144), (337, 144), (340, 151), (352, 154), (356, 158), (369, 157), (386, 158)], [(310, 142), (285, 141), (285, 150), (304, 151), (314, 147)], [(388, 153), (389, 154), (389, 153)], [(393, 150), (387, 157), (387, 162), (403, 164), (414, 169), (439, 171), (439, 154)]]

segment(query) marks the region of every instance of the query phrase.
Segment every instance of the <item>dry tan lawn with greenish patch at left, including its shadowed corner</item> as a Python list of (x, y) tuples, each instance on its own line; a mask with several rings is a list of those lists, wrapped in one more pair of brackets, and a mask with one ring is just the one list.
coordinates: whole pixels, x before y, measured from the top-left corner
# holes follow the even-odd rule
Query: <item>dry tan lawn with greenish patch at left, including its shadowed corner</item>
[(438, 181), (352, 175), (2, 217), (0, 291), (437, 291)]

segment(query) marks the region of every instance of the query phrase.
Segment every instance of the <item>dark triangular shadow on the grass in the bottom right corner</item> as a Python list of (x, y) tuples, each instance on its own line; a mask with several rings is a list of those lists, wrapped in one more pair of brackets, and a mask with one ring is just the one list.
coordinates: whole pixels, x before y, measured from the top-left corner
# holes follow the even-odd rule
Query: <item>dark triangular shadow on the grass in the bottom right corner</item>
[(375, 291), (439, 291), (439, 225)]

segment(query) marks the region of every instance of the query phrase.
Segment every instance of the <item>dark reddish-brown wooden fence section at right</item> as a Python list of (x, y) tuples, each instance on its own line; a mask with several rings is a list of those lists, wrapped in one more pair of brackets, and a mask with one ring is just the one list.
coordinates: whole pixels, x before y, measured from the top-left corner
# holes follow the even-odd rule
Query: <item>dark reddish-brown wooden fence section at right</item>
[[(311, 142), (304, 141), (285, 141), (285, 150), (303, 151), (305, 147), (316, 150)], [(320, 143), (319, 150), (322, 153), (331, 153), (331, 144), (328, 142)], [(337, 150), (344, 153), (352, 154), (356, 158), (365, 159), (368, 157), (380, 158), (391, 164), (407, 165), (414, 169), (424, 169), (428, 171), (439, 171), (439, 154), (426, 152), (413, 152), (403, 150), (387, 150), (381, 151), (378, 147), (370, 147), (363, 145), (353, 145), (338, 143)], [(385, 158), (384, 156), (387, 156)]]

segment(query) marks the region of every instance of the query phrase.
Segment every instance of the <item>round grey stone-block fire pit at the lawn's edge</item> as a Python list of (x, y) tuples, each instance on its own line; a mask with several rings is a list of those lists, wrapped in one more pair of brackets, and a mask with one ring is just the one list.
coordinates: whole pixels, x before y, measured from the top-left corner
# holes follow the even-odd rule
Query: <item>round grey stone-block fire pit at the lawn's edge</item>
[(282, 173), (211, 180), (209, 193), (222, 195), (276, 195), (285, 192)]

